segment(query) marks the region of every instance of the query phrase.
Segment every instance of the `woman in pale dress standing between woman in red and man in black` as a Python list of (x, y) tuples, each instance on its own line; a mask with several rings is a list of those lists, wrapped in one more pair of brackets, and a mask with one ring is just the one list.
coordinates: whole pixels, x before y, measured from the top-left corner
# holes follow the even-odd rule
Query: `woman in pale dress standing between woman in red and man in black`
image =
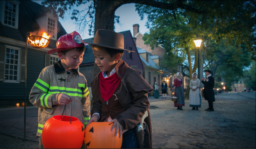
[(192, 107), (192, 110), (198, 110), (198, 107), (201, 107), (200, 80), (197, 79), (197, 73), (193, 73), (192, 76), (193, 79), (190, 80), (189, 107)]

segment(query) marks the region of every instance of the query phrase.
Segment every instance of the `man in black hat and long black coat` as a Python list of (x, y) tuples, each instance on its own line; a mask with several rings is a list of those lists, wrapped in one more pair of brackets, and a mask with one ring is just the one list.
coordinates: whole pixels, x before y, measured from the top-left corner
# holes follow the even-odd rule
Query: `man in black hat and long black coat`
[(212, 77), (211, 70), (204, 70), (206, 79), (203, 77), (202, 83), (204, 84), (204, 99), (208, 101), (209, 108), (206, 111), (214, 111), (213, 109), (213, 101), (215, 101), (214, 97), (214, 78)]

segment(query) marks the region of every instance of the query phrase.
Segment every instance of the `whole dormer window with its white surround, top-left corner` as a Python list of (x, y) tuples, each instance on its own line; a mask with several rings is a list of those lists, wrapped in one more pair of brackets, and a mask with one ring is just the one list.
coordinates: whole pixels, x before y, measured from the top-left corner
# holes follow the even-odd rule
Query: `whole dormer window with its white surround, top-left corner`
[[(4, 3), (4, 4), (3, 4)], [(19, 3), (12, 1), (2, 1), (3, 4), (3, 16), (1, 22), (3, 25), (7, 25), (13, 28), (18, 28), (18, 12), (19, 12)]]

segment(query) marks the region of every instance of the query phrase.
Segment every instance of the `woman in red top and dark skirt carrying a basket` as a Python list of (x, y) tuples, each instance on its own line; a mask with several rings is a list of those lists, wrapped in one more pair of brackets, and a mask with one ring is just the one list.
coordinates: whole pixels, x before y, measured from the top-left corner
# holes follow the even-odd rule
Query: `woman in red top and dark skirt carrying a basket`
[(181, 73), (176, 73), (177, 78), (174, 79), (174, 95), (177, 97), (177, 101), (174, 102), (174, 107), (177, 110), (183, 110), (182, 107), (185, 106), (184, 93), (182, 88)]

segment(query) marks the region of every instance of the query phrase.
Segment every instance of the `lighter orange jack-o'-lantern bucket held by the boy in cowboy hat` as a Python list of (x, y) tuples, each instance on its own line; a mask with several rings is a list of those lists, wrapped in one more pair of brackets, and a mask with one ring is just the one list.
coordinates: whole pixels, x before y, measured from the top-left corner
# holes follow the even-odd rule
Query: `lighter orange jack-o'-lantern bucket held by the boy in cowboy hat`
[(116, 127), (111, 131), (111, 122), (92, 122), (85, 129), (84, 146), (87, 149), (120, 149), (122, 135), (115, 136)]

